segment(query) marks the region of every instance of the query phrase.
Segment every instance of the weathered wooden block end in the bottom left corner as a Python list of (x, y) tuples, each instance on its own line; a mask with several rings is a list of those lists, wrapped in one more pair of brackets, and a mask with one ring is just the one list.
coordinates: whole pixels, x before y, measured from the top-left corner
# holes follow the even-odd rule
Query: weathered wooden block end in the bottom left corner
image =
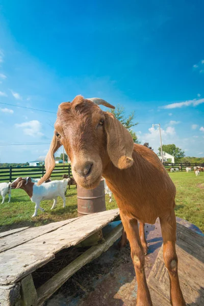
[(20, 285), (0, 286), (1, 306), (20, 306)]

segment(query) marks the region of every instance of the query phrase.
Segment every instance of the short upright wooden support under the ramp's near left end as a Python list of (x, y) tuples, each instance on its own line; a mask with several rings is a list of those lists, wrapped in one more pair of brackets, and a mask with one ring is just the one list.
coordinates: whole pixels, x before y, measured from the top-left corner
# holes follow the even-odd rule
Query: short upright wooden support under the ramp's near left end
[(37, 292), (31, 274), (20, 281), (21, 285), (21, 306), (33, 306), (38, 299)]

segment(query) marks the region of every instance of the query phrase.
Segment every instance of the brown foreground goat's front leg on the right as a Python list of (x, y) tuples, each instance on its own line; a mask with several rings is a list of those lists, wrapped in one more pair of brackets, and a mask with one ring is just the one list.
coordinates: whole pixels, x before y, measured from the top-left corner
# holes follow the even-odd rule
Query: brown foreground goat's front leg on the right
[(174, 209), (168, 216), (160, 218), (163, 237), (163, 256), (170, 281), (170, 302), (173, 306), (185, 306), (178, 275), (178, 260), (175, 251), (176, 219)]

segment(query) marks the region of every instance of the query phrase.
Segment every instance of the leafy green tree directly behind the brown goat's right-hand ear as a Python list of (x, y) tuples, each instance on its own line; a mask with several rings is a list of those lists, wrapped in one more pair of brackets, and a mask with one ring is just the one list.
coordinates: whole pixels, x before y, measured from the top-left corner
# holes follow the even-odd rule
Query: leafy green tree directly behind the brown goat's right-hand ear
[(140, 143), (136, 133), (132, 130), (132, 127), (138, 124), (137, 122), (134, 122), (135, 112), (133, 111), (129, 116), (126, 117), (124, 114), (124, 107), (118, 104), (114, 110), (111, 110), (111, 113), (131, 133), (134, 143)]

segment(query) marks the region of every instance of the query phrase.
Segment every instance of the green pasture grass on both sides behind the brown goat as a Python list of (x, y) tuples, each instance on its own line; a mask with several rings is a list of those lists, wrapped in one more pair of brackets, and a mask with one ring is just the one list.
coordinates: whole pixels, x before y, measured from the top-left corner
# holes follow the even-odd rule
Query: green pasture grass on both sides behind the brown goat
[[(177, 190), (176, 216), (190, 221), (204, 232), (204, 173), (196, 177), (194, 172), (175, 172), (170, 173), (170, 176)], [(39, 226), (77, 217), (77, 189), (75, 186), (71, 186), (70, 190), (67, 189), (65, 209), (62, 203), (62, 199), (58, 197), (57, 206), (51, 211), (53, 200), (42, 201), (41, 207), (45, 209), (45, 212), (38, 210), (38, 216), (32, 218), (34, 203), (23, 190), (14, 189), (11, 193), (11, 202), (0, 204), (0, 232), (8, 231), (11, 228)], [(117, 208), (114, 198), (109, 203), (108, 195), (106, 195), (106, 207), (107, 210)]]

